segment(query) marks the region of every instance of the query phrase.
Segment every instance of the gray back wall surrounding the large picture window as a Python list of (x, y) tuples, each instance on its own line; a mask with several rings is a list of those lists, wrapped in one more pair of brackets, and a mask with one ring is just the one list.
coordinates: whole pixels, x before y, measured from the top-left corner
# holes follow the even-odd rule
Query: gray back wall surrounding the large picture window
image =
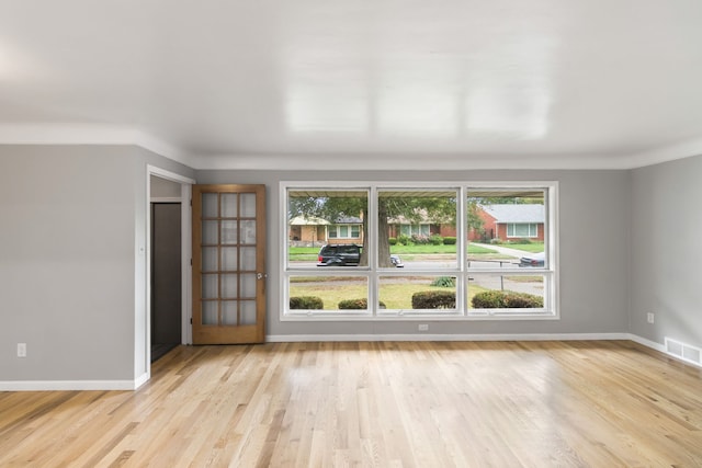
[(626, 333), (630, 171), (199, 171), (199, 183), (268, 186), (268, 334), (416, 334), (416, 321), (281, 321), (280, 181), (559, 182), (561, 320), (431, 322), (431, 333)]

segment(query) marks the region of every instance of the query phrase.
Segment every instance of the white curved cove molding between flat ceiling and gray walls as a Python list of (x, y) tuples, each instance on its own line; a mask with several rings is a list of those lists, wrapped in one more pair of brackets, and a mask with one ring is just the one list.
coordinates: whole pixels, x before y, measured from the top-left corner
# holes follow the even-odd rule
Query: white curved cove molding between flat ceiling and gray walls
[(693, 138), (630, 155), (500, 153), (233, 153), (191, 155), (136, 127), (103, 124), (0, 124), (0, 145), (134, 145), (195, 170), (629, 170), (702, 155)]

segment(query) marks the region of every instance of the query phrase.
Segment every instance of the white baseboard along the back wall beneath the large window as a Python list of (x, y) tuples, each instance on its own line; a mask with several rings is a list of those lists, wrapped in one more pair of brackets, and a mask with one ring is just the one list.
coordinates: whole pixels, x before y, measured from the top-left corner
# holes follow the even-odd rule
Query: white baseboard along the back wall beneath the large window
[(508, 333), (508, 334), (270, 334), (269, 343), (321, 341), (574, 341), (630, 340), (629, 333)]

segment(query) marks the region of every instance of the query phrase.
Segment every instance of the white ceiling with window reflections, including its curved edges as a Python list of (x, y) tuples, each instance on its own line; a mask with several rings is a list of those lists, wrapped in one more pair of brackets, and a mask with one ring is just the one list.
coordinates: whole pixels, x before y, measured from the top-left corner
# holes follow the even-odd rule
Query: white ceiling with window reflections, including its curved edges
[(700, 0), (4, 0), (0, 142), (197, 169), (702, 153)]

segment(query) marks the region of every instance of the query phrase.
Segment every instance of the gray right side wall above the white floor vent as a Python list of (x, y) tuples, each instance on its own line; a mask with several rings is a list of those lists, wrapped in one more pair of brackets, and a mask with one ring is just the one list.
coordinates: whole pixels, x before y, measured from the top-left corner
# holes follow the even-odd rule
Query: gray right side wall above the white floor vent
[(632, 171), (630, 330), (657, 343), (702, 347), (701, 176), (702, 156)]

